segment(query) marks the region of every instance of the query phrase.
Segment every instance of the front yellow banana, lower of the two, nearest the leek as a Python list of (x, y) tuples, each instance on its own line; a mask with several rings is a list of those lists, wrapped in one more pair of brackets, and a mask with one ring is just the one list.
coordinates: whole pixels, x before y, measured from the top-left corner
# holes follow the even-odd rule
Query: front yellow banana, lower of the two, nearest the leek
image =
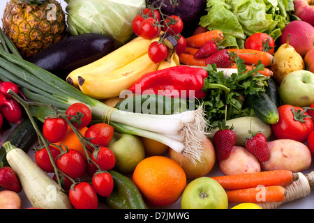
[(158, 63), (154, 63), (149, 59), (148, 54), (144, 54), (112, 72), (91, 72), (80, 75), (78, 78), (79, 88), (91, 98), (101, 100), (117, 97), (121, 91), (129, 89), (135, 84), (142, 75), (157, 70), (157, 68)]

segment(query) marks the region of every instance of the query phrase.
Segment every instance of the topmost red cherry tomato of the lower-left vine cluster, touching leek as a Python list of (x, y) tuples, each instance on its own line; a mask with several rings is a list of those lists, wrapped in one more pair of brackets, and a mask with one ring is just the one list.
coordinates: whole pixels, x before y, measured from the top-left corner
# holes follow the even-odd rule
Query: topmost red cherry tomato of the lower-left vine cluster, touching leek
[[(68, 115), (68, 120), (71, 121), (73, 126), (77, 129), (81, 129), (89, 125), (91, 122), (91, 109), (83, 103), (77, 102), (68, 107), (66, 109), (66, 115)], [(75, 117), (71, 116), (79, 116), (80, 119), (77, 120)]]

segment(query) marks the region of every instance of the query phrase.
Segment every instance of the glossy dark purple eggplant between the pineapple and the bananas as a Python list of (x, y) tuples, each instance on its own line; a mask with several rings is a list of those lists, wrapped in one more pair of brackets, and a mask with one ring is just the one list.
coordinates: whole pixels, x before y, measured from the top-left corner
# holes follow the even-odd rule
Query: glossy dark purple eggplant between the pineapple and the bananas
[(82, 33), (46, 47), (29, 59), (29, 62), (65, 78), (71, 71), (102, 58), (115, 48), (114, 40), (109, 36)]

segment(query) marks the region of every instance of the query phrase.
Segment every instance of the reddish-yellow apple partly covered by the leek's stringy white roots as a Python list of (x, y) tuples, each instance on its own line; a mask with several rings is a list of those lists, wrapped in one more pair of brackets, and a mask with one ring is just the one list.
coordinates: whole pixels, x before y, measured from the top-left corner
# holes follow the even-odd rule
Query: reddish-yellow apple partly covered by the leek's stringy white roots
[(193, 180), (201, 176), (208, 174), (213, 169), (216, 155), (215, 148), (211, 141), (206, 138), (203, 142), (203, 152), (200, 157), (200, 161), (193, 163), (190, 158), (186, 157), (182, 153), (177, 153), (173, 149), (169, 149), (169, 157), (179, 163), (186, 173), (186, 178)]

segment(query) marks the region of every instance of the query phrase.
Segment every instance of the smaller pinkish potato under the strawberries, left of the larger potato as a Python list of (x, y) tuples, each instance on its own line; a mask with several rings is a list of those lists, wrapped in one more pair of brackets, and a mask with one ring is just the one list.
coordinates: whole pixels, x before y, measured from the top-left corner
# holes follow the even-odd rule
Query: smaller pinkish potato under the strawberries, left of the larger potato
[(218, 161), (218, 167), (225, 175), (257, 173), (261, 170), (255, 155), (241, 146), (234, 146), (227, 159)]

